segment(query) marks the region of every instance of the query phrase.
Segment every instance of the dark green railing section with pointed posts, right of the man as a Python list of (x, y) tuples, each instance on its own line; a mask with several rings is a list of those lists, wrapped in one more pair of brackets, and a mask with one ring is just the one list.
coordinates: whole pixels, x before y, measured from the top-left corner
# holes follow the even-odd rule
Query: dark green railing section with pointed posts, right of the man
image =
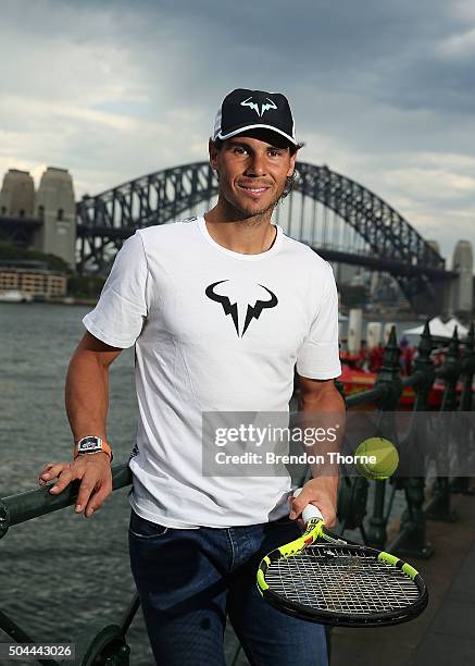
[[(380, 418), (385, 412), (391, 415), (398, 407), (402, 390), (412, 387), (415, 392), (413, 411), (429, 411), (429, 394), (436, 379), (445, 384), (440, 411), (473, 410), (473, 378), (475, 373), (475, 332), (472, 324), (463, 343), (464, 354), (460, 357), (461, 344), (457, 329), (449, 342), (443, 365), (435, 369), (432, 359), (434, 348), (428, 322), (421, 336), (417, 357), (410, 377), (399, 374), (399, 349), (396, 330), (392, 329), (385, 349), (384, 362), (375, 387), (371, 391), (350, 396), (346, 399), (347, 409), (362, 405), (374, 404)], [(462, 393), (458, 404), (457, 385), (462, 380)], [(414, 420), (414, 428), (407, 435), (405, 444), (417, 446), (420, 422)], [(450, 437), (450, 433), (447, 433)], [(391, 441), (398, 446), (398, 433), (393, 429)], [(340, 530), (360, 528), (366, 544), (377, 548), (404, 554), (413, 557), (429, 557), (433, 548), (426, 541), (426, 522), (430, 520), (453, 520), (454, 514), (450, 507), (453, 492), (470, 493), (468, 478), (450, 480), (448, 477), (437, 477), (430, 489), (426, 489), (424, 477), (404, 477), (391, 480), (392, 495), (386, 506), (387, 481), (372, 481), (374, 485), (373, 511), (368, 519), (368, 529), (363, 529), (365, 517), (365, 497), (368, 482), (363, 479), (342, 479), (338, 498), (338, 518)], [(390, 543), (387, 542), (387, 527), (391, 517), (392, 499), (396, 492), (402, 491), (405, 497), (405, 509), (400, 520), (399, 533)], [(426, 491), (430, 491), (427, 493)], [(427, 494), (430, 499), (426, 502)]]

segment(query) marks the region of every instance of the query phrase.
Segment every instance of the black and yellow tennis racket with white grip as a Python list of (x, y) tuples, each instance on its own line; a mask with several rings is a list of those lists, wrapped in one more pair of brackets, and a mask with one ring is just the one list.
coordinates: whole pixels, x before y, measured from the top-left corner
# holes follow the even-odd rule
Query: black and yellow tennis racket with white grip
[(304, 620), (341, 627), (405, 622), (427, 606), (426, 584), (411, 565), (343, 541), (324, 527), (313, 504), (302, 518), (302, 536), (268, 553), (259, 566), (258, 589), (270, 604)]

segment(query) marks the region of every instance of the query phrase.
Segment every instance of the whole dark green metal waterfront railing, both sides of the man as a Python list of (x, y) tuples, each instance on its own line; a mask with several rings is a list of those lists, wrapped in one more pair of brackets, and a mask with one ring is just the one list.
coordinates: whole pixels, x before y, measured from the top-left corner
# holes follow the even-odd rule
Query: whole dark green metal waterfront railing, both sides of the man
[[(461, 358), (461, 344), (464, 354)], [(441, 368), (435, 369), (432, 359), (434, 348), (428, 323), (420, 338), (414, 370), (410, 377), (400, 377), (399, 348), (396, 329), (392, 328), (385, 348), (383, 367), (377, 374), (374, 388), (346, 397), (347, 409), (374, 405), (376, 425), (385, 427), (393, 433), (392, 441), (398, 445), (398, 433), (391, 422), (393, 412), (400, 402), (402, 391), (412, 387), (415, 392), (413, 411), (429, 411), (429, 393), (436, 379), (442, 380), (443, 395), (440, 411), (457, 410), (467, 412), (473, 410), (473, 378), (475, 373), (475, 331), (471, 325), (468, 335), (460, 343), (457, 329), (449, 343), (447, 357)], [(458, 399), (457, 385), (462, 381), (462, 393)], [(337, 382), (339, 390), (342, 386)], [(417, 421), (409, 434), (409, 443), (417, 446)], [(408, 443), (408, 441), (405, 442)], [(132, 472), (126, 464), (112, 467), (113, 490), (125, 488), (132, 483)], [(426, 501), (426, 479), (424, 477), (404, 477), (387, 481), (367, 481), (364, 478), (343, 477), (338, 496), (338, 529), (341, 532), (359, 529), (366, 544), (414, 557), (428, 557), (433, 554), (430, 544), (426, 541), (426, 522), (430, 520), (453, 520), (450, 499), (453, 492), (468, 493), (468, 479), (436, 478), (432, 488), (432, 497)], [(370, 483), (373, 484), (372, 513), (367, 529), (364, 519), (367, 515), (367, 498)], [(49, 493), (50, 483), (41, 489), (11, 495), (0, 499), (0, 539), (8, 530), (21, 522), (60, 510), (75, 503), (79, 481), (73, 482), (61, 495)], [(387, 502), (388, 486), (391, 494)], [(388, 521), (391, 517), (393, 497), (397, 492), (404, 493), (405, 508), (400, 519), (399, 533), (391, 543), (387, 543)], [(387, 506), (388, 505), (388, 506)], [(127, 630), (139, 607), (137, 594), (123, 609), (116, 625), (102, 626), (100, 620), (87, 626), (76, 639), (76, 657), (74, 662), (58, 662), (54, 659), (38, 659), (39, 664), (59, 666), (128, 666), (129, 646), (126, 641)], [(21, 643), (35, 642), (5, 613), (0, 610), (0, 629), (14, 641)], [(237, 663), (239, 648), (233, 658)]]

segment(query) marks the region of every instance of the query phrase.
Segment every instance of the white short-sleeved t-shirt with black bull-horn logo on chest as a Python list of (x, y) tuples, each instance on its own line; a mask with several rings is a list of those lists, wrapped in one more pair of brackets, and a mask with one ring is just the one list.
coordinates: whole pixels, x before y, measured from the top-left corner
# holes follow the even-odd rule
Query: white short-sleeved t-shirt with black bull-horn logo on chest
[(277, 226), (265, 252), (218, 245), (204, 218), (150, 226), (117, 254), (86, 329), (136, 351), (134, 510), (172, 528), (233, 527), (289, 510), (289, 477), (202, 473), (203, 411), (288, 411), (300, 375), (341, 373), (332, 267)]

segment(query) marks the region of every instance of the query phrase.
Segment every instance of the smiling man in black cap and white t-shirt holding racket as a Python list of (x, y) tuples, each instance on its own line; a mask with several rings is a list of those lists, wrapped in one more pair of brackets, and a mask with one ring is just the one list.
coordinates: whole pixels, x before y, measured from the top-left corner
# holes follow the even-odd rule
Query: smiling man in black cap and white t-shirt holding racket
[[(158, 664), (224, 665), (226, 614), (251, 664), (326, 664), (323, 628), (257, 591), (262, 556), (299, 534), (288, 476), (207, 476), (202, 459), (203, 412), (286, 412), (296, 362), (304, 412), (345, 409), (332, 269), (271, 223), (298, 149), (283, 95), (227, 95), (209, 146), (216, 206), (126, 240), (70, 365), (76, 457), (41, 483), (82, 479), (76, 510), (90, 516), (111, 492), (109, 366), (135, 344), (130, 565)], [(336, 491), (312, 479), (290, 519), (313, 502), (334, 523)]]

